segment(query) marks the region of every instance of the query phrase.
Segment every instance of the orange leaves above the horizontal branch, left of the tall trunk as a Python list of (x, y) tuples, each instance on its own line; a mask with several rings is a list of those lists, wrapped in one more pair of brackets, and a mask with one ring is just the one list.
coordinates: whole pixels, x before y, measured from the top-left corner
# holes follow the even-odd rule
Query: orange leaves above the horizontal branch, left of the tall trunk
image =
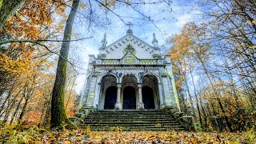
[[(64, 0), (59, 1), (64, 2)], [(53, 23), (52, 19), (54, 14), (54, 16), (65, 14), (66, 6), (60, 5), (60, 2), (26, 1), (22, 8), (6, 22), (5, 33), (10, 34), (13, 39), (46, 39), (45, 36), (49, 37), (60, 30), (54, 29), (58, 21)], [(59, 19), (61, 20), (62, 17)]]

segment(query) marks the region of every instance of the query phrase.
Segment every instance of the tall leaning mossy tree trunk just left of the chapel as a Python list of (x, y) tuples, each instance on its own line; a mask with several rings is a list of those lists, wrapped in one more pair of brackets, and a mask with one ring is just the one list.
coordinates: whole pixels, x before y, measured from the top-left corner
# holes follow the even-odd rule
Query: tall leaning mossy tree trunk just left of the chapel
[(68, 59), (73, 22), (75, 14), (78, 9), (79, 2), (80, 0), (73, 0), (69, 17), (66, 20), (62, 48), (60, 51), (60, 56), (58, 58), (58, 67), (51, 100), (50, 119), (50, 126), (55, 128), (63, 128), (63, 126), (65, 126), (66, 124), (68, 124), (70, 128), (74, 128), (74, 124), (72, 124), (72, 122), (70, 122), (70, 120), (66, 117), (66, 110), (64, 106), (64, 94), (67, 68), (66, 60)]

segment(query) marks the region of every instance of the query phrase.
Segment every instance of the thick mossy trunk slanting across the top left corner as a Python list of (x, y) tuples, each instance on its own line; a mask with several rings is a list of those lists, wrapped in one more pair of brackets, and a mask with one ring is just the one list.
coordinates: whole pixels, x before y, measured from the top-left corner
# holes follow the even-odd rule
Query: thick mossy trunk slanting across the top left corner
[(0, 32), (11, 14), (18, 9), (26, 0), (0, 0)]

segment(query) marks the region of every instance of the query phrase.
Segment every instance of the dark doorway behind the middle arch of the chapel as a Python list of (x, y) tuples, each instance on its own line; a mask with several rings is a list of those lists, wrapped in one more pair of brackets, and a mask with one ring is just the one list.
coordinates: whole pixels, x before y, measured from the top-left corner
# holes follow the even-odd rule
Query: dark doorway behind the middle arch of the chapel
[(127, 86), (123, 90), (123, 106), (122, 109), (136, 109), (135, 89), (132, 86)]

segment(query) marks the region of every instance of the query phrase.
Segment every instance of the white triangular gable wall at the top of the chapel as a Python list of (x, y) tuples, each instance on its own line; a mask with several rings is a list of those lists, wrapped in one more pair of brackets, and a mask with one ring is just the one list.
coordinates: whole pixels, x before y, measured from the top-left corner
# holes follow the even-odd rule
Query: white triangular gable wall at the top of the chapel
[(121, 59), (126, 53), (126, 47), (130, 45), (134, 48), (134, 56), (138, 59), (154, 59), (154, 47), (150, 46), (133, 34), (126, 34), (124, 37), (100, 50), (101, 54), (106, 54), (104, 59)]

